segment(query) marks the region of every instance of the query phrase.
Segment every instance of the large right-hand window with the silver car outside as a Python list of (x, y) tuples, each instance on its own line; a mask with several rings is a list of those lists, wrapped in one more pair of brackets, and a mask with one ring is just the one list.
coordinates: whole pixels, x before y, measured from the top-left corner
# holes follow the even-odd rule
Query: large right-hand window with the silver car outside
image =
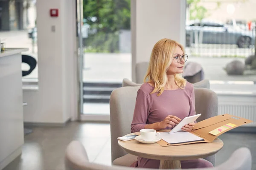
[(187, 0), (186, 53), (206, 79), (256, 81), (255, 8), (252, 0)]

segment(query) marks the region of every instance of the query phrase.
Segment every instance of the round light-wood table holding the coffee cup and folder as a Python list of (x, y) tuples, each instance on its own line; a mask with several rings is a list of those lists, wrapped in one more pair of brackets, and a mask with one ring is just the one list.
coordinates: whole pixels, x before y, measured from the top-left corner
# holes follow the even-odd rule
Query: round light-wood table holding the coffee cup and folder
[[(140, 135), (140, 132), (131, 134)], [(143, 144), (135, 139), (126, 142), (119, 140), (118, 144), (123, 150), (132, 155), (160, 160), (160, 169), (181, 169), (181, 160), (205, 158), (214, 155), (223, 147), (223, 142), (218, 138), (212, 143), (183, 144), (166, 147), (162, 147), (157, 143)]]

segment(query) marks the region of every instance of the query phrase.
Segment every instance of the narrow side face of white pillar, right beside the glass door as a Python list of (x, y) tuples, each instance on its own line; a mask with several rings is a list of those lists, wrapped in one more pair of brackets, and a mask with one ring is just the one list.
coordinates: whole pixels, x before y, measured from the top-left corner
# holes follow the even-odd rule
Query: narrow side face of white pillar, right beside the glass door
[[(62, 31), (63, 44), (62, 49), (64, 50), (63, 60), (64, 67), (62, 67), (62, 74), (64, 79), (63, 92), (66, 92), (66, 96), (63, 98), (64, 101), (64, 120), (70, 118), (77, 119), (78, 116), (78, 64), (77, 64), (77, 46), (76, 46), (76, 3), (74, 0), (62, 0)], [(65, 108), (66, 107), (66, 108)]]

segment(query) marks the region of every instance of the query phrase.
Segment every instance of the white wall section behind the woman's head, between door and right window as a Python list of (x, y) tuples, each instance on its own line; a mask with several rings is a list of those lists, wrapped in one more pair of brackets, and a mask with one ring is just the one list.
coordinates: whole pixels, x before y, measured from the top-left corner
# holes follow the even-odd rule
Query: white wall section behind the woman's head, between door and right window
[(149, 61), (154, 44), (169, 38), (185, 45), (186, 0), (131, 0), (132, 79), (135, 64)]

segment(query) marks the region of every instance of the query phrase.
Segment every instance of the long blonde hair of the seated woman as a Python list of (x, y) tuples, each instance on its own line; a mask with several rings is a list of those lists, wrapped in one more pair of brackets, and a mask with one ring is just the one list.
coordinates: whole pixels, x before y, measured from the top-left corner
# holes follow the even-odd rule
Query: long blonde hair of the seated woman
[[(151, 94), (159, 92), (157, 96), (160, 96), (164, 91), (164, 86), (167, 83), (166, 71), (172, 63), (172, 57), (175, 50), (179, 46), (184, 53), (184, 48), (178, 42), (164, 38), (159, 40), (151, 52), (151, 57), (148, 65), (148, 70), (144, 78), (144, 82), (153, 82), (154, 90)], [(182, 74), (175, 74), (175, 83), (180, 89), (184, 89), (186, 86), (186, 79)], [(147, 81), (148, 80), (148, 81)]]

